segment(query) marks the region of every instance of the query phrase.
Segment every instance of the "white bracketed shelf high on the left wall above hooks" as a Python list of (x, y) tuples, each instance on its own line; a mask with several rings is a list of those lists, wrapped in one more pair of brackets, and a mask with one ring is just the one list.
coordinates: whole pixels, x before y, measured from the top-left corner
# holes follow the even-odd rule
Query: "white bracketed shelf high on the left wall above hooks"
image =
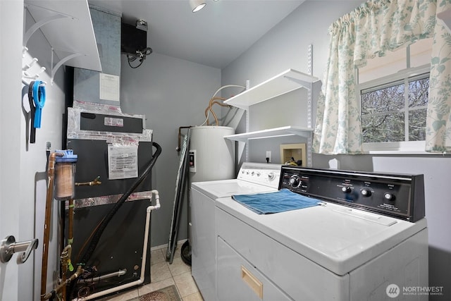
[[(101, 71), (87, 0), (25, 0), (24, 5), (35, 20), (35, 25), (25, 32), (23, 46), (27, 46), (28, 39), (36, 30), (42, 31), (51, 46), (52, 80), (56, 70), (63, 64)], [(54, 56), (58, 56), (59, 61), (54, 62)]]

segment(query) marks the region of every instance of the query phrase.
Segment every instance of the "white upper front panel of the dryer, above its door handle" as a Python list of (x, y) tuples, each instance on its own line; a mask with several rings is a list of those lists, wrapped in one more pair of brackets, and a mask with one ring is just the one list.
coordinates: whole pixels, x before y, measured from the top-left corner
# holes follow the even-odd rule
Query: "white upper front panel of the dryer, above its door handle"
[(217, 235), (293, 300), (350, 300), (349, 274), (333, 274), (218, 207), (215, 216)]

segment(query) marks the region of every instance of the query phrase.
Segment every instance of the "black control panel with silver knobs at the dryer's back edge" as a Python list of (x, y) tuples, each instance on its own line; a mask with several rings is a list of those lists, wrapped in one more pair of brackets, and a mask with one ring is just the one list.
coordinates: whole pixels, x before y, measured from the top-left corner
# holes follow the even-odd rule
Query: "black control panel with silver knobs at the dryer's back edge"
[(407, 221), (424, 217), (424, 176), (282, 166), (279, 189)]

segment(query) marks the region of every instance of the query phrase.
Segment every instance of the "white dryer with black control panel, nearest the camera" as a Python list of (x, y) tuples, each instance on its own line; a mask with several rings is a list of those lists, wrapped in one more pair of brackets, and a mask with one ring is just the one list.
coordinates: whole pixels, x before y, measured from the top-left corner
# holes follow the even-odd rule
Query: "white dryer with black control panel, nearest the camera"
[(422, 175), (283, 166), (280, 188), (321, 202), (257, 214), (216, 200), (218, 300), (428, 300)]

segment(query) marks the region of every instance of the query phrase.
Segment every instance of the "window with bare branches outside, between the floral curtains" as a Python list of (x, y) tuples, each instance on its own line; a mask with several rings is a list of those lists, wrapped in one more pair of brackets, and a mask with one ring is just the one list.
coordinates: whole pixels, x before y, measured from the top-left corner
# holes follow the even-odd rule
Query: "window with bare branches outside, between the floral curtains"
[(424, 151), (431, 46), (424, 39), (359, 68), (364, 150)]

